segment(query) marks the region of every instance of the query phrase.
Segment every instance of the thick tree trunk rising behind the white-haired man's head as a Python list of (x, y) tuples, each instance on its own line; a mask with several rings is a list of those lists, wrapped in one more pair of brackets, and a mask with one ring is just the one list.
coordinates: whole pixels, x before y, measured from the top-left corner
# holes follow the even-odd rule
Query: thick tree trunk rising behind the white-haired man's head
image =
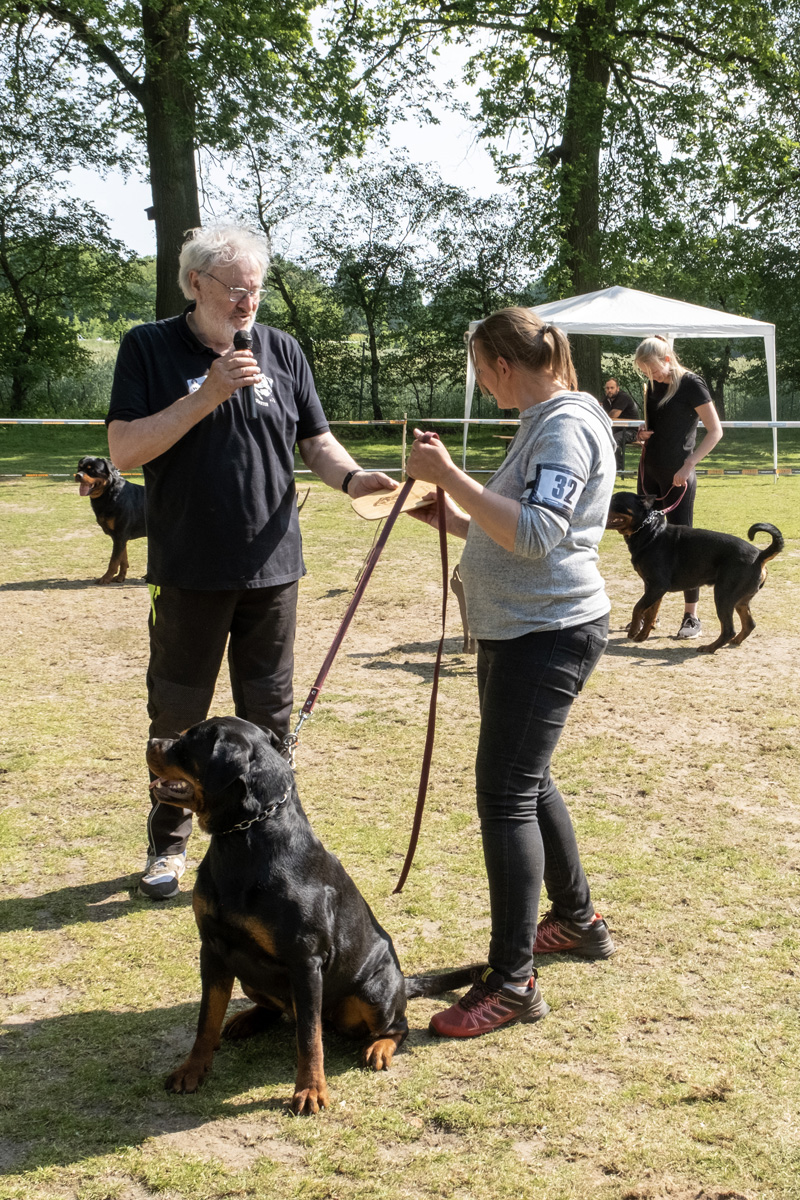
[(194, 95), (187, 80), (190, 20), (181, 0), (143, 0), (144, 109), (156, 221), (156, 320), (182, 312), (178, 258), (200, 224), (194, 160)]

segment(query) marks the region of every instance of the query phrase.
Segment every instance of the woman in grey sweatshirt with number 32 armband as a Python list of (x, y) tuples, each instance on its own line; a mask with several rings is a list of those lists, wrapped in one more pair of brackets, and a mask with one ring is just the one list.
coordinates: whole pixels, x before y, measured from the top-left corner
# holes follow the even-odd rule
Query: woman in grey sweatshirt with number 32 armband
[[(608, 640), (597, 545), (614, 486), (612, 425), (578, 391), (565, 335), (529, 308), (481, 322), (469, 353), (481, 391), (519, 410), (503, 466), (481, 486), (419, 430), (408, 462), (409, 475), (445, 490), (447, 533), (467, 540), (461, 575), (477, 638), (475, 775), (492, 938), (470, 990), (431, 1021), (445, 1037), (545, 1016), (534, 955), (614, 952), (551, 778), (572, 702)], [(437, 526), (435, 506), (414, 515)], [(552, 907), (537, 928), (542, 882)]]

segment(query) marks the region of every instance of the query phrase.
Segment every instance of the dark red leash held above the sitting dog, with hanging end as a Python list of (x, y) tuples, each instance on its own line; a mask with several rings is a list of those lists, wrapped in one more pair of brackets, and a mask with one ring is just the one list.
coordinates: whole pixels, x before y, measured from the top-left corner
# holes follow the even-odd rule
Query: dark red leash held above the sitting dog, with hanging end
[[(289, 766), (293, 768), (293, 770), (295, 766), (295, 750), (297, 746), (297, 742), (300, 739), (300, 730), (302, 728), (305, 721), (307, 721), (308, 718), (312, 715), (314, 704), (317, 703), (319, 694), (323, 690), (323, 684), (325, 683), (327, 673), (331, 670), (331, 666), (333, 665), (333, 659), (338, 653), (339, 646), (344, 641), (344, 635), (350, 628), (350, 622), (353, 620), (355, 611), (359, 607), (359, 604), (361, 602), (361, 598), (367, 588), (367, 583), (369, 582), (372, 572), (378, 563), (378, 559), (380, 558), (381, 551), (386, 545), (386, 541), (389, 540), (389, 534), (392, 532), (395, 522), (399, 516), (403, 502), (405, 500), (413, 485), (414, 480), (410, 478), (407, 479), (407, 481), (403, 484), (402, 488), (397, 493), (397, 499), (395, 500), (391, 512), (386, 517), (386, 523), (384, 524), (384, 528), (380, 532), (380, 536), (375, 541), (369, 553), (369, 557), (367, 558), (363, 571), (361, 572), (361, 578), (359, 580), (355, 592), (353, 593), (353, 598), (347, 607), (344, 617), (342, 618), (342, 623), (338, 630), (336, 631), (336, 636), (333, 637), (331, 648), (325, 655), (325, 661), (319, 668), (319, 673), (314, 679), (314, 685), (308, 692), (306, 703), (302, 706), (300, 710), (300, 718), (294, 728), (294, 732), (288, 733), (283, 739), (281, 752), (288, 758)], [(437, 487), (437, 512), (439, 516), (439, 551), (441, 554), (441, 637), (439, 638), (437, 661), (433, 670), (433, 686), (431, 689), (431, 702), (428, 706), (428, 727), (425, 739), (425, 750), (422, 752), (422, 768), (420, 772), (420, 786), (416, 797), (416, 809), (414, 811), (414, 821), (411, 824), (411, 836), (409, 841), (408, 852), (405, 854), (405, 862), (403, 863), (403, 870), (401, 871), (401, 877), (395, 888), (396, 893), (402, 890), (403, 884), (408, 878), (408, 872), (411, 869), (411, 863), (414, 862), (414, 851), (416, 850), (416, 844), (420, 836), (420, 827), (422, 824), (422, 810), (425, 808), (425, 798), (428, 791), (428, 779), (431, 775), (431, 760), (433, 757), (433, 740), (437, 725), (437, 696), (439, 692), (439, 674), (441, 671), (441, 655), (445, 643), (445, 622), (447, 617), (447, 533), (445, 528), (445, 493), (440, 487)]]

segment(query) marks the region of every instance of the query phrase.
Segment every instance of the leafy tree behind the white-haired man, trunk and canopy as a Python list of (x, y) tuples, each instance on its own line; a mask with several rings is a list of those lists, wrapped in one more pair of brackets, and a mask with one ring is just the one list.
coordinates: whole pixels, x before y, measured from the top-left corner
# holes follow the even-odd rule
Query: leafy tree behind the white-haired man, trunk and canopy
[[(269, 142), (301, 120), (312, 121), (335, 156), (359, 143), (368, 79), (354, 83), (345, 14), (333, 12), (312, 36), (318, 7), (318, 0), (251, 0), (246, 7), (227, 0), (0, 0), (18, 113), (40, 80), (58, 80), (73, 106), (76, 91), (83, 92), (91, 126), (109, 148), (121, 144), (128, 161), (146, 161), (160, 316), (184, 302), (175, 276), (185, 232), (200, 224), (198, 150), (234, 152), (246, 139)], [(66, 116), (71, 139), (77, 112)]]

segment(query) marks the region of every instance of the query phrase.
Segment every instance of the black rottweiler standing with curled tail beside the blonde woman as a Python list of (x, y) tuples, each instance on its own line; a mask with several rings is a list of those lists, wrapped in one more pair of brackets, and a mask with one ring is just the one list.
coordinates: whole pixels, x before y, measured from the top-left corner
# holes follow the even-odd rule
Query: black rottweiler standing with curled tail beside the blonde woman
[[(702, 654), (714, 654), (721, 646), (741, 646), (756, 628), (750, 601), (764, 586), (765, 563), (783, 550), (783, 535), (775, 526), (762, 523), (747, 530), (750, 542), (757, 533), (768, 533), (771, 542), (764, 550), (744, 538), (711, 529), (690, 529), (667, 524), (655, 508), (654, 497), (634, 492), (616, 492), (606, 521), (607, 529), (621, 533), (631, 552), (637, 575), (644, 582), (644, 595), (633, 606), (628, 637), (643, 642), (650, 635), (658, 606), (667, 592), (714, 587), (714, 604), (720, 618), (720, 636), (709, 646), (698, 646)], [(741, 629), (735, 632), (734, 610)]]

